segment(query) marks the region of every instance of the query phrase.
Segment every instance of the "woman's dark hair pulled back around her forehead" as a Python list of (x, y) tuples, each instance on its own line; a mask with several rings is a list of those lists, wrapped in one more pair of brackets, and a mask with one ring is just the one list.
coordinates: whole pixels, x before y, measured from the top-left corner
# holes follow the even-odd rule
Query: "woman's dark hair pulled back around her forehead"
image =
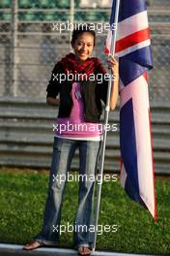
[(75, 43), (75, 40), (78, 38), (78, 36), (84, 32), (90, 33), (94, 37), (94, 47), (96, 45), (96, 33), (94, 30), (90, 28), (90, 26), (87, 23), (83, 24), (76, 24), (76, 27), (72, 31), (71, 36), (71, 46)]

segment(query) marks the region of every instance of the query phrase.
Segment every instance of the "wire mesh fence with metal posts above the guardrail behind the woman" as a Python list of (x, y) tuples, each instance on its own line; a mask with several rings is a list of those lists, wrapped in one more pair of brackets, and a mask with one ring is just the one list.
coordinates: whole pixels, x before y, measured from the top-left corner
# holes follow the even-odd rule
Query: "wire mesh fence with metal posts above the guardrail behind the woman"
[[(68, 22), (96, 24), (95, 55), (103, 61), (111, 0), (1, 0), (0, 95), (45, 98), (54, 64), (71, 50)], [(170, 2), (147, 1), (154, 52), (150, 73), (151, 101), (168, 101), (170, 95)], [(57, 30), (61, 26), (62, 31)], [(71, 28), (71, 27), (70, 27)]]

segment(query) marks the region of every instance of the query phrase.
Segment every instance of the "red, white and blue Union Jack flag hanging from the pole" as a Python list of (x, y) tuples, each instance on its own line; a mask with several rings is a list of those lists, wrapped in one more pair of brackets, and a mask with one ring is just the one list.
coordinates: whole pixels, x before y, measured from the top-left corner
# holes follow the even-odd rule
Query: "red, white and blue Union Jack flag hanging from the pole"
[[(110, 26), (113, 27), (116, 0)], [(110, 53), (110, 29), (105, 53)], [(121, 183), (156, 219), (155, 175), (147, 70), (152, 52), (145, 0), (120, 0), (115, 55), (120, 73)]]

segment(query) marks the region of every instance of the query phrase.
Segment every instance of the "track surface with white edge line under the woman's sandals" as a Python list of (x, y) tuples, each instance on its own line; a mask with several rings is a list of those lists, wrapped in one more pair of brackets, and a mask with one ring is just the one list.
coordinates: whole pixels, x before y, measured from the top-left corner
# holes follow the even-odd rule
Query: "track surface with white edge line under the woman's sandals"
[[(47, 248), (42, 247), (32, 251), (22, 250), (23, 245), (0, 243), (0, 256), (77, 256), (76, 250), (64, 249), (64, 248)], [(95, 251), (92, 255), (97, 256), (137, 256), (139, 254), (128, 254), (128, 253), (118, 253), (118, 252), (108, 252), (108, 251)], [(147, 256), (141, 255), (140, 256)], [(148, 255), (149, 256), (149, 255)], [(150, 255), (154, 256), (154, 255)]]

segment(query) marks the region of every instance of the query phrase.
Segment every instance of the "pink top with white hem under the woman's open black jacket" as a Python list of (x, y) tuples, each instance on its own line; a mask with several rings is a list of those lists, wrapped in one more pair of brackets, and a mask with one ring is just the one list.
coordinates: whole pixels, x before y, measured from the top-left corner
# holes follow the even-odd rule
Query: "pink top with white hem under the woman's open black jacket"
[(79, 82), (72, 83), (71, 98), (73, 101), (71, 115), (57, 118), (55, 135), (73, 140), (100, 140), (102, 124), (84, 121), (84, 104)]

